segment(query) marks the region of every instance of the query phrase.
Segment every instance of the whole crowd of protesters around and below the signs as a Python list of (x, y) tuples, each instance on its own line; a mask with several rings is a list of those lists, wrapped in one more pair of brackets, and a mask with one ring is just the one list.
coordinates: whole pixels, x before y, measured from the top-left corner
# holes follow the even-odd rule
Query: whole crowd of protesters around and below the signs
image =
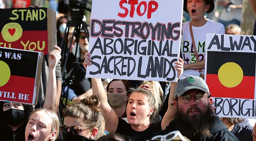
[[(256, 2), (251, 3), (256, 7)], [(219, 20), (213, 21), (207, 15), (216, 4), (223, 9)], [(87, 66), (92, 65), (86, 28), (71, 28), (65, 34), (70, 16), (59, 10), (56, 28), (61, 48), (56, 46), (44, 56), (38, 103), (0, 102), (1, 138), (169, 141), (175, 135), (181, 141), (256, 141), (256, 119), (214, 115), (204, 81), (206, 50), (200, 48), (207, 33), (240, 35), (242, 6), (242, 0), (184, 0), (191, 20), (183, 22), (180, 59), (174, 62), (179, 80), (164, 83), (164, 88), (158, 81), (85, 77)], [(71, 79), (61, 76), (63, 67)], [(64, 101), (71, 104), (63, 105)]]

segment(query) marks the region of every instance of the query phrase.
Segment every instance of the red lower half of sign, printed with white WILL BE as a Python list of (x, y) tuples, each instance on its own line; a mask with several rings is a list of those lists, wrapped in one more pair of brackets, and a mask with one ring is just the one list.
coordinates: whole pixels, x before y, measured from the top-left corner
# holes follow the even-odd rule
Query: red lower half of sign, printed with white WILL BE
[(34, 86), (35, 78), (11, 75), (9, 81), (0, 87), (0, 99), (32, 104)]

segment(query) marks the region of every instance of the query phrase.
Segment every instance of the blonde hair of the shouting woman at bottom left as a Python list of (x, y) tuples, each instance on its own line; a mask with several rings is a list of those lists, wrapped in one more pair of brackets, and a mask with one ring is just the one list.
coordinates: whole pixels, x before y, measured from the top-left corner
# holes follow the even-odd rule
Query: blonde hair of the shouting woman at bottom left
[[(34, 110), (31, 114), (30, 114), (30, 117), (33, 113), (35, 112), (44, 112), (45, 114), (49, 115), (49, 117), (51, 118), (51, 121), (52, 121), (52, 124), (51, 124), (51, 133), (53, 133), (54, 131), (56, 131), (56, 136), (54, 138), (57, 139), (58, 136), (59, 136), (59, 117), (58, 115), (53, 111), (53, 110), (50, 110), (50, 109), (43, 109), (43, 108), (40, 108), (40, 109), (36, 109)], [(30, 119), (29, 117), (29, 119)]]

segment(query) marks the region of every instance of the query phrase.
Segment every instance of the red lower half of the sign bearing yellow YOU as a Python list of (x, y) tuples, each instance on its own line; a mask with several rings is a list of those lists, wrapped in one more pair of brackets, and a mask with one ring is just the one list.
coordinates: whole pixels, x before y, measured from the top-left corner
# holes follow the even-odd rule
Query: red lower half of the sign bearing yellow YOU
[[(2, 34), (0, 34), (0, 38)], [(2, 44), (2, 47), (48, 53), (48, 31), (23, 31), (19, 40)], [(43, 45), (44, 44), (44, 45)]]

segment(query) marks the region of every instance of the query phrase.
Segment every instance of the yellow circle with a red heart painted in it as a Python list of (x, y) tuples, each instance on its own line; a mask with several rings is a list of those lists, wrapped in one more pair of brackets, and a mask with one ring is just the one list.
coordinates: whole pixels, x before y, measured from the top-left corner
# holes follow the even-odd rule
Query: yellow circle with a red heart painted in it
[(22, 36), (22, 27), (16, 22), (10, 22), (4, 25), (1, 33), (6, 42), (14, 42)]

